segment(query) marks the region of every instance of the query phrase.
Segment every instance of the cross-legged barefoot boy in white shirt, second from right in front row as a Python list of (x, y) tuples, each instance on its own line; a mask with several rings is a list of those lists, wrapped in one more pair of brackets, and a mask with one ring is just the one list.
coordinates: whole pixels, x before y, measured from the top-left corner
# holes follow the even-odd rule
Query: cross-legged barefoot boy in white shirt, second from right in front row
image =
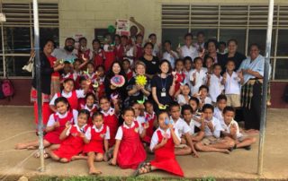
[(198, 151), (215, 151), (229, 154), (235, 143), (229, 137), (220, 139), (222, 127), (220, 121), (213, 117), (214, 108), (211, 104), (205, 104), (202, 108), (204, 118), (204, 133), (205, 137), (201, 142), (195, 144)]

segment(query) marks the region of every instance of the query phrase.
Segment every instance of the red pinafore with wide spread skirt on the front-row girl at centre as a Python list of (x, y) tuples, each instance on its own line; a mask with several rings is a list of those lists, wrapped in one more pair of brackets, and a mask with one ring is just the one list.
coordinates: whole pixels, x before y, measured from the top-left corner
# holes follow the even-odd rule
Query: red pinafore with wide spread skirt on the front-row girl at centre
[(146, 159), (146, 151), (139, 137), (139, 124), (134, 121), (131, 127), (123, 123), (121, 143), (119, 146), (117, 164), (120, 168), (136, 169), (139, 163)]

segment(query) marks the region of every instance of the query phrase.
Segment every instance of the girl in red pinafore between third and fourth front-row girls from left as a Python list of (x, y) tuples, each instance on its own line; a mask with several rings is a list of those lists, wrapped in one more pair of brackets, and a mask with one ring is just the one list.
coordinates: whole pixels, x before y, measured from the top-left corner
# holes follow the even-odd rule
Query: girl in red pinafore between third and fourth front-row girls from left
[(109, 147), (112, 147), (115, 144), (115, 135), (119, 126), (118, 114), (120, 108), (116, 102), (113, 102), (114, 108), (112, 108), (109, 99), (106, 97), (101, 98), (99, 102), (104, 125), (108, 125), (110, 129)]

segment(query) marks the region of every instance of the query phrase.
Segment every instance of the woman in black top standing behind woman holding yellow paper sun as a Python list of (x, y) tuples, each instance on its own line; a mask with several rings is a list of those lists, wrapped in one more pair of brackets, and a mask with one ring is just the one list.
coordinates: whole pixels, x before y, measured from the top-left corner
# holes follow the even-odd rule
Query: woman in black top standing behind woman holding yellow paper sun
[(144, 45), (144, 55), (139, 57), (139, 60), (146, 65), (146, 75), (149, 79), (153, 78), (159, 68), (159, 59), (157, 56), (153, 56), (153, 47), (152, 43), (146, 43)]

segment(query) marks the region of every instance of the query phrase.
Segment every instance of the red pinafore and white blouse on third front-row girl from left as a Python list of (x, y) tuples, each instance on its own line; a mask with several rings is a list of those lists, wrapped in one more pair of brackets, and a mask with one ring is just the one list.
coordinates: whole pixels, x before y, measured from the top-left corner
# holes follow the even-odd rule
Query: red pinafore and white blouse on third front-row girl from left
[(96, 126), (93, 125), (92, 127), (88, 128), (86, 135), (87, 134), (87, 139), (90, 140), (90, 142), (85, 144), (83, 152), (104, 153), (103, 142), (105, 139), (110, 139), (109, 127), (107, 125), (102, 125), (102, 127), (98, 130)]

